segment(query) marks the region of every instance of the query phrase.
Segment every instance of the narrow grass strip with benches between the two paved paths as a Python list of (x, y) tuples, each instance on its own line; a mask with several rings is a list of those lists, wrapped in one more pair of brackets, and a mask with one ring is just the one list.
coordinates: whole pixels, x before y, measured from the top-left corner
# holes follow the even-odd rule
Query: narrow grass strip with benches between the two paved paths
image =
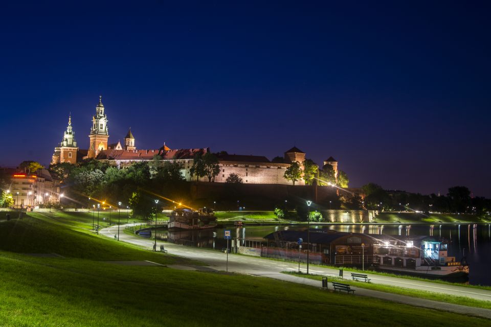
[[(307, 275), (304, 273), (298, 273), (298, 272), (293, 272), (293, 271), (285, 271), (283, 273), (291, 274), (291, 275), (295, 275), (295, 276), (299, 276), (299, 277), (315, 279), (317, 281), (321, 281), (322, 277), (324, 277), (321, 275), (315, 275), (315, 274), (308, 274)], [(463, 306), (469, 306), (469, 307), (491, 309), (491, 301), (481, 301), (481, 300), (472, 299), (472, 298), (469, 298), (466, 296), (445, 295), (445, 294), (439, 294), (439, 293), (434, 293), (434, 292), (429, 292), (429, 291), (414, 290), (414, 289), (409, 289), (409, 288), (404, 288), (404, 287), (388, 286), (388, 285), (365, 283), (365, 282), (356, 282), (356, 281), (352, 281), (350, 279), (340, 279), (337, 277), (327, 277), (327, 280), (329, 282), (339, 282), (339, 283), (349, 284), (349, 285), (352, 285), (355, 287), (366, 288), (366, 289), (370, 289), (370, 290), (374, 290), (374, 291), (381, 291), (381, 292), (386, 292), (386, 293), (394, 293), (394, 294), (407, 295), (407, 296), (412, 296), (412, 297), (426, 298), (426, 299), (430, 299), (430, 300), (447, 302), (447, 303), (455, 303), (457, 305), (463, 305)], [(330, 287), (330, 285), (329, 285), (329, 287)]]

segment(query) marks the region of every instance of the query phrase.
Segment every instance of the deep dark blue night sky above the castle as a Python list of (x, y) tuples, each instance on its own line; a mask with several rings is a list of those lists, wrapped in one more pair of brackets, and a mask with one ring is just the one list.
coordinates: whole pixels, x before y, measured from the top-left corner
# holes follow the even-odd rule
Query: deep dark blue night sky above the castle
[(49, 164), (68, 114), (110, 142), (333, 156), (351, 186), (491, 197), (489, 5), (0, 4), (1, 166)]

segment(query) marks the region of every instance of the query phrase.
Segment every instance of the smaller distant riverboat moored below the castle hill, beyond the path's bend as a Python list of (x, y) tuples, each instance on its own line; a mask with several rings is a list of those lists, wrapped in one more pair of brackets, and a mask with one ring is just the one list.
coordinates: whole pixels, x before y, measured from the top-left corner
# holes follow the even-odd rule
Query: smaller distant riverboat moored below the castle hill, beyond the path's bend
[(207, 229), (216, 227), (216, 217), (213, 209), (201, 208), (198, 211), (191, 209), (175, 209), (171, 212), (167, 228), (176, 229)]

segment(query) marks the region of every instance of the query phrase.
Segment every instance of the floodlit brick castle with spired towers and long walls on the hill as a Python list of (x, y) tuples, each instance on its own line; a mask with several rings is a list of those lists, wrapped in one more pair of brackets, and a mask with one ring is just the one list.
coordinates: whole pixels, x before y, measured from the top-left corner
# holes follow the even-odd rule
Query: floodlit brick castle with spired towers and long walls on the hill
[[(85, 159), (96, 159), (107, 162), (111, 166), (124, 169), (136, 161), (150, 161), (155, 155), (159, 155), (163, 161), (179, 162), (182, 166), (181, 173), (186, 180), (191, 181), (192, 176), (190, 169), (193, 165), (193, 159), (197, 154), (205, 154), (210, 152), (210, 148), (197, 149), (170, 149), (164, 145), (158, 149), (139, 150), (136, 147), (135, 136), (131, 132), (131, 128), (121, 142), (108, 144), (109, 131), (107, 127), (107, 115), (102, 97), (99, 97), (99, 103), (96, 106), (96, 113), (92, 116), (92, 126), (89, 138), (89, 148), (87, 150), (80, 149), (75, 140), (75, 132), (72, 128), (72, 117), (69, 115), (68, 127), (63, 134), (63, 139), (59, 146), (55, 148), (52, 156), (51, 164), (60, 162), (69, 162), (75, 164), (78, 161)], [(244, 183), (253, 184), (291, 184), (291, 181), (286, 180), (283, 175), (285, 170), (292, 162), (303, 162), (305, 160), (305, 152), (293, 147), (284, 152), (282, 159), (275, 158), (271, 161), (265, 156), (256, 155), (237, 155), (227, 154), (225, 152), (217, 154), (220, 173), (215, 177), (215, 182), (225, 182), (227, 177), (235, 173), (242, 178)], [(334, 173), (338, 173), (338, 161), (333, 157), (329, 157), (324, 161), (324, 165), (329, 164), (334, 169)], [(194, 177), (195, 178), (195, 177)], [(208, 181), (207, 178), (202, 178), (202, 181)], [(303, 180), (299, 180), (297, 185), (304, 185)]]

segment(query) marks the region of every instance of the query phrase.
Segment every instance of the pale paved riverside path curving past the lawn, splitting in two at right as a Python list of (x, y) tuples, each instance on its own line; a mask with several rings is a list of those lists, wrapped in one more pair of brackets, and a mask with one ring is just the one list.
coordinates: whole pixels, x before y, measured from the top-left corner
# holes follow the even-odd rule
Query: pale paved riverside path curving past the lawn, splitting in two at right
[[(121, 229), (125, 226), (131, 226), (132, 224), (121, 225)], [(101, 229), (101, 235), (108, 238), (114, 239), (114, 236), (118, 233), (118, 226), (111, 226), (108, 228)], [(126, 233), (120, 231), (120, 241), (135, 244), (143, 248), (152, 249), (153, 240), (144, 239), (134, 235), (127, 235)], [(227, 254), (216, 250), (188, 247), (184, 245), (177, 245), (169, 242), (157, 241), (157, 248), (160, 245), (164, 245), (168, 253), (180, 255), (188, 259), (197, 260), (204, 262), (217, 271), (226, 270), (226, 258)], [(306, 265), (301, 264), (300, 270), (306, 272)], [(314, 287), (321, 287), (320, 281), (315, 281), (309, 278), (297, 277), (294, 275), (288, 275), (282, 273), (282, 271), (298, 271), (298, 263), (293, 262), (283, 262), (275, 261), (271, 259), (260, 258), (256, 256), (240, 255), (240, 254), (229, 254), (228, 256), (228, 271), (250, 274), (256, 276), (264, 276), (275, 279), (281, 279), (282, 281), (310, 285)], [(309, 272), (326, 275), (326, 276), (339, 276), (338, 269), (319, 267), (319, 266), (309, 266)], [(481, 290), (476, 288), (438, 284), (432, 282), (415, 281), (413, 279), (408, 279), (404, 277), (389, 277), (376, 274), (367, 273), (368, 277), (371, 278), (371, 282), (374, 284), (383, 284), (388, 286), (404, 287), (416, 290), (426, 290), (441, 294), (455, 295), (455, 296), (466, 296), (478, 300), (491, 301), (491, 291)], [(350, 271), (344, 271), (344, 277), (350, 277)], [(425, 307), (443, 311), (451, 311), (466, 315), (473, 315), (479, 317), (485, 317), (491, 319), (491, 310), (467, 307), (461, 305), (454, 305), (452, 303), (443, 303), (439, 301), (421, 299), (411, 296), (398, 295), (392, 293), (385, 293), (379, 291), (373, 291), (363, 288), (354, 288), (357, 295), (370, 296), (381, 298), (385, 300), (405, 303), (412, 306)]]

